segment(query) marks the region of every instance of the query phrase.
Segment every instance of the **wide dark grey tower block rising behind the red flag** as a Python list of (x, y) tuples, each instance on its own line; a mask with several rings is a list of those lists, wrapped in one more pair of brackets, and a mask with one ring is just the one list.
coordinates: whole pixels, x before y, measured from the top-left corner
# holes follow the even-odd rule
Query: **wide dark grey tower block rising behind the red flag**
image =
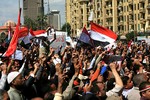
[(37, 19), (37, 16), (44, 15), (43, 0), (23, 0), (23, 15), (32, 20)]

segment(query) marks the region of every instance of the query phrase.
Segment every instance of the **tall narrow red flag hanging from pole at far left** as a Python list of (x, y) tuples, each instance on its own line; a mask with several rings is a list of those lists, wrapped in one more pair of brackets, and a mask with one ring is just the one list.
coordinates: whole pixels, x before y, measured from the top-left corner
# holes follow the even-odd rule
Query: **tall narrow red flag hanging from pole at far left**
[(19, 37), (20, 16), (21, 16), (21, 8), (19, 10), (18, 23), (17, 23), (16, 29), (15, 29), (14, 35), (10, 41), (8, 49), (3, 54), (3, 56), (5, 56), (5, 57), (11, 56), (16, 51), (17, 43), (18, 43), (18, 37)]

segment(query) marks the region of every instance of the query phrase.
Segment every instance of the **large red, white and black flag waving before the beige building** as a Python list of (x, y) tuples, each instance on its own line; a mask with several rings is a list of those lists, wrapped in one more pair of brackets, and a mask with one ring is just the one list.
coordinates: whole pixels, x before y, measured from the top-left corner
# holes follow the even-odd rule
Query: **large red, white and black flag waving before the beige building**
[(106, 45), (116, 41), (117, 35), (113, 31), (104, 28), (102, 26), (99, 26), (98, 24), (95, 24), (93, 22), (91, 22), (90, 24), (91, 24), (90, 37), (93, 39), (94, 44), (96, 46), (99, 45), (105, 47)]

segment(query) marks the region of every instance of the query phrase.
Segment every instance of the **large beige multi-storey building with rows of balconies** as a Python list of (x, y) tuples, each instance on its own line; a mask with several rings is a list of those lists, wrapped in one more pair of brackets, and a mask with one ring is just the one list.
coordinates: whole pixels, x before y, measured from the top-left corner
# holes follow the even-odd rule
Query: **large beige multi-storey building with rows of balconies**
[(150, 0), (66, 0), (66, 21), (75, 36), (83, 26), (89, 26), (88, 17), (119, 35), (131, 31), (150, 31)]

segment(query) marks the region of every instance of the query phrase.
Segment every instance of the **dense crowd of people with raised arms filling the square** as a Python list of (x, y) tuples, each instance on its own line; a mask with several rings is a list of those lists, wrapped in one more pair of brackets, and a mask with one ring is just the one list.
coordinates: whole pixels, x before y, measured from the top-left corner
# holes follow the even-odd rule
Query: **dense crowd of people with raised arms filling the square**
[(18, 44), (22, 60), (1, 57), (0, 100), (150, 100), (145, 42), (109, 49), (67, 43), (57, 52), (32, 42), (29, 49)]

